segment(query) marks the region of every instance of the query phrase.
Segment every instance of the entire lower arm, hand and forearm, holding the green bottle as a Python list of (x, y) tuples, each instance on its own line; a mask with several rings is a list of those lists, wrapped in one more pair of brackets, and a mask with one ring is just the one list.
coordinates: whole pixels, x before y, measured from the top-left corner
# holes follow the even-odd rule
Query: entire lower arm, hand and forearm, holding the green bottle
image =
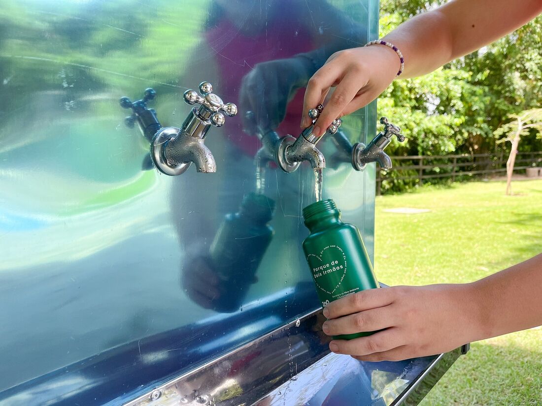
[(333, 352), (362, 361), (435, 355), (473, 341), (542, 325), (542, 254), (468, 284), (370, 289), (324, 309), (327, 335), (375, 331), (333, 340)]

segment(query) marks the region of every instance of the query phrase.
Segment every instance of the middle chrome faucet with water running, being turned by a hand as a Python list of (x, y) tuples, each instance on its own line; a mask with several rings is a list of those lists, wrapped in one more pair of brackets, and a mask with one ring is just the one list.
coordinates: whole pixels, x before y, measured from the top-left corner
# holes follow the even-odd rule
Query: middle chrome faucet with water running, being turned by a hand
[[(321, 137), (312, 133), (314, 124), (323, 109), (324, 106), (319, 104), (317, 108), (309, 110), (308, 115), (312, 119), (312, 124), (301, 132), (298, 139), (286, 136), (280, 140), (278, 148), (276, 148), (276, 161), (283, 171), (294, 172), (303, 161), (310, 162), (315, 169), (326, 167), (324, 154), (316, 147)], [(328, 134), (337, 133), (340, 125), (341, 121), (339, 119), (334, 120), (326, 132)]]

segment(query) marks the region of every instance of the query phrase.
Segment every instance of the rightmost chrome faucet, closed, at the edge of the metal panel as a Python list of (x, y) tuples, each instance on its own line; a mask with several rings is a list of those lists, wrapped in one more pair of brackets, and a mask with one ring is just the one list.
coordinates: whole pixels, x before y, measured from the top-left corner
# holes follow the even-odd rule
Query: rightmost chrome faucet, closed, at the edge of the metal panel
[(352, 147), (352, 166), (357, 171), (362, 171), (369, 162), (378, 162), (380, 168), (390, 169), (391, 158), (384, 152), (384, 148), (389, 145), (393, 135), (397, 137), (399, 142), (405, 140), (404, 135), (401, 134), (401, 128), (394, 126), (386, 117), (382, 117), (380, 123), (384, 125), (383, 133), (378, 133), (367, 146), (358, 142)]

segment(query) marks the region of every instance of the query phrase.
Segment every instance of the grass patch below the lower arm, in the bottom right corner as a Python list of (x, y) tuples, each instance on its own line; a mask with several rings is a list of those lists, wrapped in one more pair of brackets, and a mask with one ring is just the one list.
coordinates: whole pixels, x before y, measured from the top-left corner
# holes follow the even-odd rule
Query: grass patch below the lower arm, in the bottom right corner
[(474, 343), (461, 356), (422, 406), (540, 405), (542, 351), (514, 345)]

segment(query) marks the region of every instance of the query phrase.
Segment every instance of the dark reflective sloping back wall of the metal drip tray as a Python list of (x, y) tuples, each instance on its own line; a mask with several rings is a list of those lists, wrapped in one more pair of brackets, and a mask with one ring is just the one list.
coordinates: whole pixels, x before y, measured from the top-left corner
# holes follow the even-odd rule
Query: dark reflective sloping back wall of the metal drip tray
[[(329, 352), (330, 339), (320, 328), (323, 320), (321, 311), (311, 312), (126, 406), (253, 404)], [(162, 396), (151, 403), (156, 390)]]

